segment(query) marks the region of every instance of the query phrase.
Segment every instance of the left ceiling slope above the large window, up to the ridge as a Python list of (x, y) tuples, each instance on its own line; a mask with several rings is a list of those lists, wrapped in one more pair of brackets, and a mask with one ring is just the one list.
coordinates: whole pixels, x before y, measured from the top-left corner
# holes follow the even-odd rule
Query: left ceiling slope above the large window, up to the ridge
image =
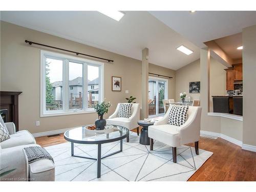
[[(1, 20), (177, 70), (200, 57), (199, 48), (147, 11), (124, 11), (117, 22), (97, 11), (2, 11)], [(43, 42), (42, 42), (43, 43)], [(185, 55), (180, 45), (194, 51)]]

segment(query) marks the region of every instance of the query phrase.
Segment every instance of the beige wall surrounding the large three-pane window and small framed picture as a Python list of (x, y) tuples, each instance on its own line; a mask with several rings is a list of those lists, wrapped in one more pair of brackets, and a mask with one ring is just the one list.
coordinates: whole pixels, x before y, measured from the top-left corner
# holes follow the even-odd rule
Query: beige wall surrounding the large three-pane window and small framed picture
[[(104, 65), (104, 97), (113, 104), (105, 118), (114, 112), (118, 102), (125, 102), (127, 96), (133, 95), (141, 103), (140, 60), (1, 22), (1, 91), (23, 92), (19, 96), (20, 130), (27, 129), (31, 133), (47, 132), (90, 124), (97, 118), (95, 113), (40, 118), (40, 49), (26, 45), (25, 39), (113, 59), (114, 63)], [(159, 66), (153, 68), (153, 71), (165, 70)], [(111, 91), (111, 76), (122, 77), (121, 92)], [(129, 94), (125, 94), (125, 90), (129, 90)], [(35, 126), (38, 120), (40, 126)]]

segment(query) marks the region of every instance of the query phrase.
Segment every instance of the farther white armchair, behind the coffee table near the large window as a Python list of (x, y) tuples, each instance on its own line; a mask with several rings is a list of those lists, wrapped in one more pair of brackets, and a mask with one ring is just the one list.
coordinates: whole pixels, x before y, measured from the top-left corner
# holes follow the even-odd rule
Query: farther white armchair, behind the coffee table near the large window
[[(124, 126), (130, 131), (137, 128), (137, 134), (139, 135), (139, 126), (138, 126), (138, 121), (140, 120), (139, 103), (133, 103), (132, 115), (130, 118), (117, 117), (120, 104), (121, 103), (117, 104), (115, 112), (111, 116), (109, 116), (109, 119), (106, 119), (106, 124)], [(129, 142), (129, 137), (127, 137), (127, 142)]]

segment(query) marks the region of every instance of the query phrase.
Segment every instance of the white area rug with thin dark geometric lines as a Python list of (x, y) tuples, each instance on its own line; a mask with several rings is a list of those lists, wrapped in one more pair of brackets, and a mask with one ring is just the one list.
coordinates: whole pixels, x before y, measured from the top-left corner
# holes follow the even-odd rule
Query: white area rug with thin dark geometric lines
[[(101, 160), (101, 178), (97, 178), (96, 160), (71, 157), (71, 143), (45, 147), (55, 163), (55, 181), (186, 181), (213, 154), (182, 145), (173, 163), (172, 148), (155, 141), (154, 151), (139, 144), (131, 132), (130, 142), (123, 140), (123, 151)], [(102, 156), (120, 149), (120, 141), (102, 144)], [(97, 157), (97, 145), (75, 144), (75, 155)]]

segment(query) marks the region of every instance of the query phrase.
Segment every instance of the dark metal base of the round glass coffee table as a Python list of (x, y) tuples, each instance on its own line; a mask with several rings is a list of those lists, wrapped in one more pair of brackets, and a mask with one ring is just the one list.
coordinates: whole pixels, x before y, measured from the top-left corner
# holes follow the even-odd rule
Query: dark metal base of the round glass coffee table
[(109, 157), (111, 155), (115, 155), (117, 153), (120, 153), (123, 151), (123, 140), (120, 140), (120, 150), (105, 156), (101, 157), (101, 144), (97, 144), (98, 145), (98, 157), (96, 158), (92, 158), (92, 157), (85, 157), (85, 156), (79, 156), (79, 155), (74, 155), (74, 143), (71, 142), (71, 156), (73, 157), (80, 157), (80, 158), (85, 158), (85, 159), (92, 159), (92, 160), (97, 160), (97, 178), (100, 178), (101, 176), (101, 159), (104, 159), (106, 157)]

